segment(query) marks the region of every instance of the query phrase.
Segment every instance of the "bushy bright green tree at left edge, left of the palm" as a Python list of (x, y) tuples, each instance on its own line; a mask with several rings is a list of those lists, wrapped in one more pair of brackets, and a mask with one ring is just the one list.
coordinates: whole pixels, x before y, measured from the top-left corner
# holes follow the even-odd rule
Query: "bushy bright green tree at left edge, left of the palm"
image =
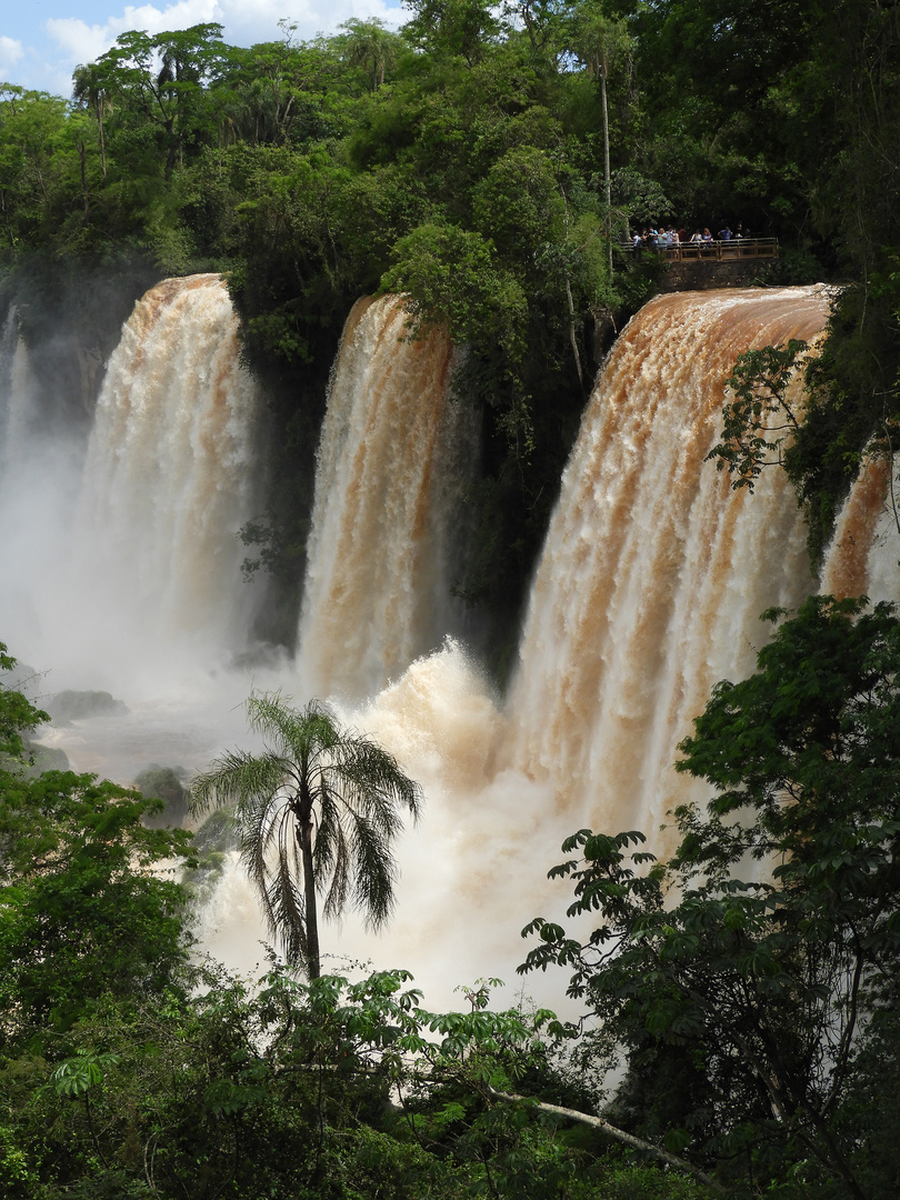
[[(5, 648), (0, 667), (14, 665)], [(148, 829), (161, 808), (94, 775), (26, 773), (26, 734), (48, 720), (0, 685), (0, 1043), (40, 1046), (103, 995), (158, 996), (188, 946), (187, 894), (158, 871), (184, 830)]]

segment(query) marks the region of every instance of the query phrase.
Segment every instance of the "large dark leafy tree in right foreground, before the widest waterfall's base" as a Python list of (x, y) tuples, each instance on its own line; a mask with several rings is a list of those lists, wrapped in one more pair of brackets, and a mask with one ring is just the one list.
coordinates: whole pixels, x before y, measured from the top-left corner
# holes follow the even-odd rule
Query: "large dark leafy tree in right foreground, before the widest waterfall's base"
[[(778, 619), (779, 613), (766, 614)], [(706, 1078), (684, 1112), (694, 1157), (779, 1147), (866, 1195), (841, 1104), (900, 950), (900, 619), (890, 605), (810, 598), (742, 683), (720, 683), (677, 769), (715, 787), (676, 811), (667, 868), (642, 834), (581, 830), (551, 875), (587, 941), (538, 918), (524, 970), (572, 968), (628, 1046), (684, 1048)], [(760, 865), (740, 877), (752, 860)], [(648, 864), (652, 864), (648, 868)], [(674, 1133), (674, 1130), (672, 1130)], [(701, 1136), (702, 1134), (702, 1136)]]

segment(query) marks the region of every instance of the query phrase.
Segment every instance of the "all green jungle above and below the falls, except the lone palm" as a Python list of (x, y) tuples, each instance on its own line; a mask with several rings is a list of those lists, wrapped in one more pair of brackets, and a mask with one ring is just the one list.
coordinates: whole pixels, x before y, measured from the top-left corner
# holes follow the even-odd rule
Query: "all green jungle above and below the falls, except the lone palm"
[[(503, 677), (598, 361), (662, 283), (626, 232), (742, 223), (780, 245), (755, 282), (835, 286), (785, 462), (815, 566), (863, 455), (896, 442), (900, 4), (408, 10), (250, 48), (132, 31), (68, 97), (0, 85), (0, 317), (60, 419), (86, 426), (150, 284), (223, 272), (269, 408), (246, 569), (289, 646), (343, 322), (404, 292), (410, 336), (444, 323), (466, 348), (482, 461), (456, 588)], [(791, 353), (746, 361), (739, 397)], [(172, 770), (146, 794), (41, 772), (47, 714), (0, 644), (0, 1194), (893, 1200), (900, 618), (769, 617), (756, 674), (682, 744), (714, 794), (674, 814), (676, 856), (634, 830), (564, 845), (552, 874), (595, 928), (536, 917), (521, 970), (563, 966), (580, 1027), (492, 1013), (492, 980), (433, 1014), (400, 970), (198, 964), (192, 904), (234, 828), (166, 826)], [(754, 856), (767, 882), (737, 877)]]

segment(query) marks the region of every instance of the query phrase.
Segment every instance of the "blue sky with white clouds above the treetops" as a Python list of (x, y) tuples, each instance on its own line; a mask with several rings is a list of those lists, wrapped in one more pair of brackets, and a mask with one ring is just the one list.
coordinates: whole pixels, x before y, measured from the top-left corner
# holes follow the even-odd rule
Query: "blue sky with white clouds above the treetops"
[(0, 14), (0, 82), (68, 96), (72, 70), (108, 50), (130, 29), (160, 32), (216, 20), (232, 46), (281, 36), (278, 22), (296, 24), (296, 37), (334, 32), (348, 17), (382, 17), (396, 26), (409, 13), (398, 0), (4, 0)]

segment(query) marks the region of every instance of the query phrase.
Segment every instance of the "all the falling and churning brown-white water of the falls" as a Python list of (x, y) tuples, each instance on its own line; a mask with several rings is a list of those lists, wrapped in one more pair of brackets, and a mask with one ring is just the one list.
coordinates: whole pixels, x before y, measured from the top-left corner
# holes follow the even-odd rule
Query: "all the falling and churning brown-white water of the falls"
[[(86, 458), (65, 438), (65, 470), (41, 474), (46, 446), (32, 456), (30, 504), (14, 474), (4, 479), (0, 637), (65, 676), (59, 686), (102, 677), (125, 696), (125, 725), (53, 734), (77, 767), (124, 782), (150, 761), (197, 769), (250, 745), (236, 706), (254, 685), (281, 686), (298, 706), (337, 696), (342, 718), (419, 779), (426, 804), (400, 844), (390, 930), (374, 938), (350, 918), (326, 928), (325, 949), (409, 967), (428, 1003), (451, 1004), (456, 983), (512, 980), (521, 926), (564, 907), (545, 881), (563, 836), (643, 828), (661, 845), (691, 718), (713, 683), (752, 667), (758, 613), (815, 587), (778, 468), (750, 496), (704, 460), (737, 355), (814, 338), (826, 314), (823, 290), (799, 288), (661, 296), (634, 318), (586, 409), (504, 703), (462, 642), (444, 640), (461, 628), (450, 584), (470, 414), (448, 398), (448, 341), (398, 340), (389, 298), (354, 308), (335, 366), (299, 661), (228, 668), (256, 602), (234, 533), (254, 515), (258, 402), (221, 281), (168, 281), (124, 330)], [(12, 445), (28, 371), (14, 342), (5, 361), (12, 419), (0, 430)], [(828, 590), (900, 595), (886, 479), (872, 468), (854, 488)], [(204, 919), (211, 950), (259, 960), (263, 930), (238, 865)], [(559, 1002), (548, 983), (528, 985)]]

